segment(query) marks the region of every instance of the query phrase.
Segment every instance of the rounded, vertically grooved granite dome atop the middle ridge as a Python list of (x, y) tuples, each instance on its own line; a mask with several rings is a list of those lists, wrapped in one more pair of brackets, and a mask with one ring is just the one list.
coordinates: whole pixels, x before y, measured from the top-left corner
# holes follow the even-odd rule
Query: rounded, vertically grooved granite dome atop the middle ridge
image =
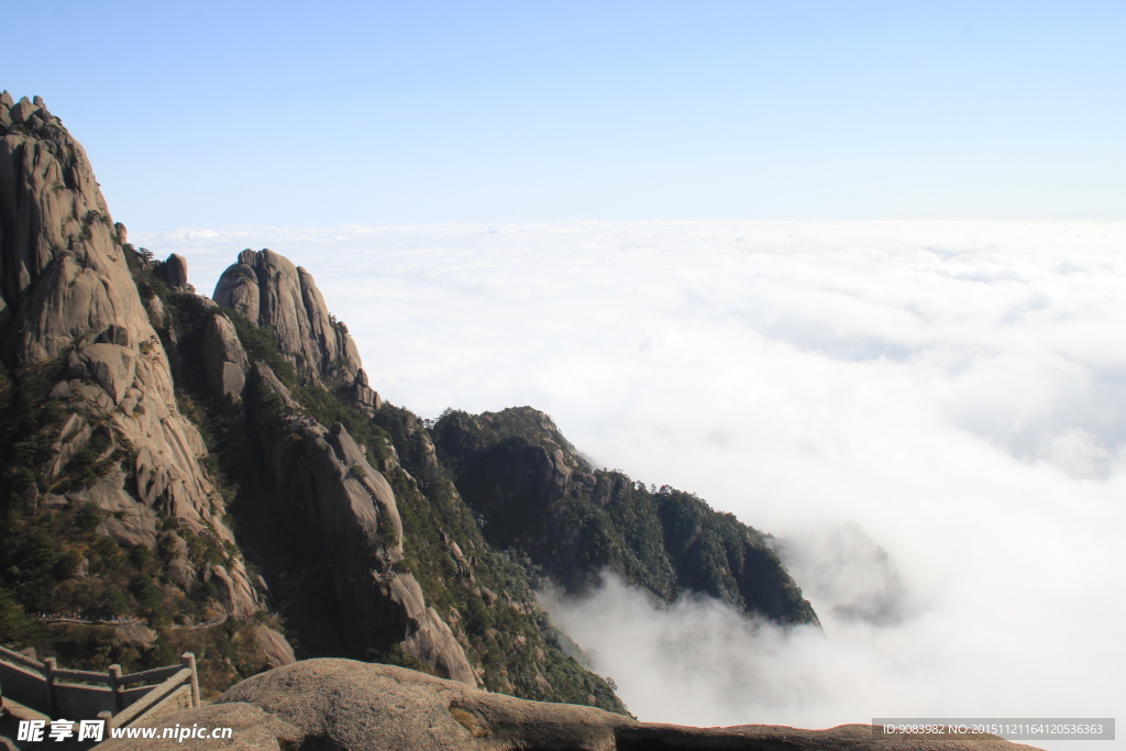
[(359, 350), (348, 329), (329, 314), (313, 276), (271, 250), (244, 250), (220, 277), (214, 299), (268, 329), (278, 349), (315, 383), (343, 386), (352, 399), (378, 409)]

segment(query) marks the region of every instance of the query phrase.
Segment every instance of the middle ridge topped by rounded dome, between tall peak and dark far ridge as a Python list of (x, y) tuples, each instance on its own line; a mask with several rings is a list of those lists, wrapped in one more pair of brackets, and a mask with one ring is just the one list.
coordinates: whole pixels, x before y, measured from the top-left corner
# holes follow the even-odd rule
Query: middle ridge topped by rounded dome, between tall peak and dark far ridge
[(312, 276), (268, 250), (240, 259), (216, 292), (235, 307), (194, 294), (182, 261), (145, 261), (134, 277), (177, 387), (222, 447), (235, 543), (296, 654), (624, 710), (560, 651), (525, 572), (490, 549), (441, 476), (422, 421), (381, 404)]

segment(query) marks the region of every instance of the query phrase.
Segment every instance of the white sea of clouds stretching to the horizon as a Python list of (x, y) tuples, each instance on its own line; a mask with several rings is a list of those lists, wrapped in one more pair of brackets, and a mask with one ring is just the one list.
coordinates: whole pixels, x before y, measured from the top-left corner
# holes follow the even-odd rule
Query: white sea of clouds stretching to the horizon
[[(1126, 705), (1126, 223), (568, 222), (133, 238), (307, 268), (423, 417), (531, 404), (774, 534), (823, 629), (607, 578), (544, 605), (642, 719)], [(1069, 748), (1044, 743), (1048, 748)], [(1076, 743), (1072, 748), (1107, 748)]]

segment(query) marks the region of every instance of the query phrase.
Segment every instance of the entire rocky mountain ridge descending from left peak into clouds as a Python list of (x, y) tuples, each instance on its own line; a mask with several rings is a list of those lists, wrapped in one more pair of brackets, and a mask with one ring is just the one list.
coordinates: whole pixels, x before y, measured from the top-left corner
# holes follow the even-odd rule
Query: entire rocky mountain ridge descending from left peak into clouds
[[(385, 403), (285, 257), (244, 250), (195, 294), (186, 259), (128, 243), (43, 101), (0, 99), (0, 640), (148, 667), (225, 618), (194, 646), (213, 694), (329, 656), (624, 713), (568, 656), (542, 581), (610, 569), (665, 602), (816, 625), (766, 536), (591, 467), (543, 412), (431, 424)], [(63, 610), (153, 638), (28, 615)]]

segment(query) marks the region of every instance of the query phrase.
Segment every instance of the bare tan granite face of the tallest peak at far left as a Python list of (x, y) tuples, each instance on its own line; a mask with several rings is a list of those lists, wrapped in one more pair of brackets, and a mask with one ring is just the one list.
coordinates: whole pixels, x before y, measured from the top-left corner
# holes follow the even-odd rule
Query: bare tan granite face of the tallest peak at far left
[[(12, 373), (46, 367), (51, 399), (72, 415), (43, 430), (57, 450), (54, 477), (105, 433), (116, 468), (91, 485), (36, 492), (35, 503), (93, 503), (102, 531), (127, 546), (157, 544), (157, 517), (233, 546), (223, 499), (200, 461), (207, 452), (177, 406), (169, 357), (142, 304), (82, 146), (41, 99), (0, 98), (0, 354)], [(54, 364), (54, 365), (52, 365)], [(50, 367), (48, 367), (50, 366)], [(233, 387), (233, 374), (224, 372)], [(181, 561), (190, 581), (206, 571)], [(224, 570), (223, 606), (259, 609), (242, 560)]]

